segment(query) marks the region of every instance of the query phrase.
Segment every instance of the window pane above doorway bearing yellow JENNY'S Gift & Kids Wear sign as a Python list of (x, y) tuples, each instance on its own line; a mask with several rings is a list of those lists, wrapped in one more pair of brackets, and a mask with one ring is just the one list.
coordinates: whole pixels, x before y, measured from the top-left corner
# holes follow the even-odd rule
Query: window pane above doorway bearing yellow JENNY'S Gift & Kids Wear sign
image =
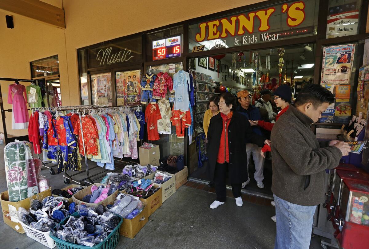
[(288, 1), (192, 24), (189, 52), (314, 36), (318, 7), (318, 0)]

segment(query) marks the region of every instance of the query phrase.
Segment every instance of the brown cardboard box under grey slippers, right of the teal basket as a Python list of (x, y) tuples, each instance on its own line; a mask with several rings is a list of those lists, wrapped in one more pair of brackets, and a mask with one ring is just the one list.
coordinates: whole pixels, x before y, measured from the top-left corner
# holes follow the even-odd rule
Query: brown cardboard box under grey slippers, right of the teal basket
[(147, 206), (144, 207), (141, 213), (139, 213), (135, 218), (123, 219), (123, 223), (120, 226), (119, 233), (124, 237), (133, 239), (135, 238), (136, 234), (144, 227), (144, 225), (148, 222), (148, 208)]

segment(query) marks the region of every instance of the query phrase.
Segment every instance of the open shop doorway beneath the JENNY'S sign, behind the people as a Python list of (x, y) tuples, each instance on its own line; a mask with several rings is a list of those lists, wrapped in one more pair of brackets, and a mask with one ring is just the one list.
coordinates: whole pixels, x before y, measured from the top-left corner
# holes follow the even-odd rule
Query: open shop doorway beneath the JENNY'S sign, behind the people
[[(195, 139), (197, 141), (197, 143), (190, 145), (191, 179), (201, 183), (211, 182), (207, 165), (207, 140), (203, 132), (204, 126), (207, 125), (204, 124), (203, 120), (206, 110), (209, 109), (208, 100), (213, 95), (220, 96), (223, 92), (230, 92), (237, 98), (237, 92), (247, 90), (252, 94), (250, 105), (255, 106), (256, 102), (261, 99), (260, 93), (262, 90), (267, 89), (273, 92), (279, 85), (287, 84), (290, 86), (293, 101), (295, 85), (296, 92), (298, 92), (304, 85), (313, 83), (314, 51), (315, 44), (301, 44), (258, 51), (242, 51), (234, 54), (214, 54), (206, 58), (190, 59), (189, 64), (193, 71), (196, 89), (194, 118)], [(237, 102), (237, 104), (239, 103)], [(275, 116), (280, 108), (275, 105), (273, 96), (271, 96), (270, 104)], [(266, 110), (257, 109), (259, 109), (261, 118), (264, 119)], [(267, 121), (275, 122), (272, 118)], [(265, 138), (270, 138), (271, 131), (261, 127), (253, 129), (261, 131)], [(254, 154), (254, 157), (257, 157), (257, 155)], [(257, 164), (259, 160), (254, 159), (252, 153), (248, 159), (250, 181), (243, 191), (247, 194), (273, 198), (271, 191), (273, 172), (270, 152), (266, 153), (266, 159), (262, 164), (263, 188), (260, 188), (255, 180), (259, 179), (260, 181), (261, 179), (260, 176), (258, 177), (255, 174), (255, 163)], [(247, 162), (244, 166), (247, 167)], [(229, 180), (227, 180), (227, 185), (231, 185)]]

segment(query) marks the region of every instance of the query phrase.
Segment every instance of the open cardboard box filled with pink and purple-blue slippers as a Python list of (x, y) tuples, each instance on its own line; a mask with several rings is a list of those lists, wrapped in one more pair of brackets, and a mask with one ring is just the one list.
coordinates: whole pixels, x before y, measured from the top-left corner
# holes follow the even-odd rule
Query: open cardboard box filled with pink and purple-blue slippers
[(117, 195), (116, 187), (110, 189), (109, 185), (95, 183), (77, 192), (72, 199), (76, 205), (85, 204), (96, 208), (99, 204), (106, 206), (113, 202)]

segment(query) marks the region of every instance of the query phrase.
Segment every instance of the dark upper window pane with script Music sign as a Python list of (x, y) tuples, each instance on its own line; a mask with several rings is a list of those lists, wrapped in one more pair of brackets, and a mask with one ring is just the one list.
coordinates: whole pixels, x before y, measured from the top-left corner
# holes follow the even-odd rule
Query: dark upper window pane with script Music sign
[(123, 67), (142, 60), (142, 38), (122, 38), (87, 48), (89, 68)]

